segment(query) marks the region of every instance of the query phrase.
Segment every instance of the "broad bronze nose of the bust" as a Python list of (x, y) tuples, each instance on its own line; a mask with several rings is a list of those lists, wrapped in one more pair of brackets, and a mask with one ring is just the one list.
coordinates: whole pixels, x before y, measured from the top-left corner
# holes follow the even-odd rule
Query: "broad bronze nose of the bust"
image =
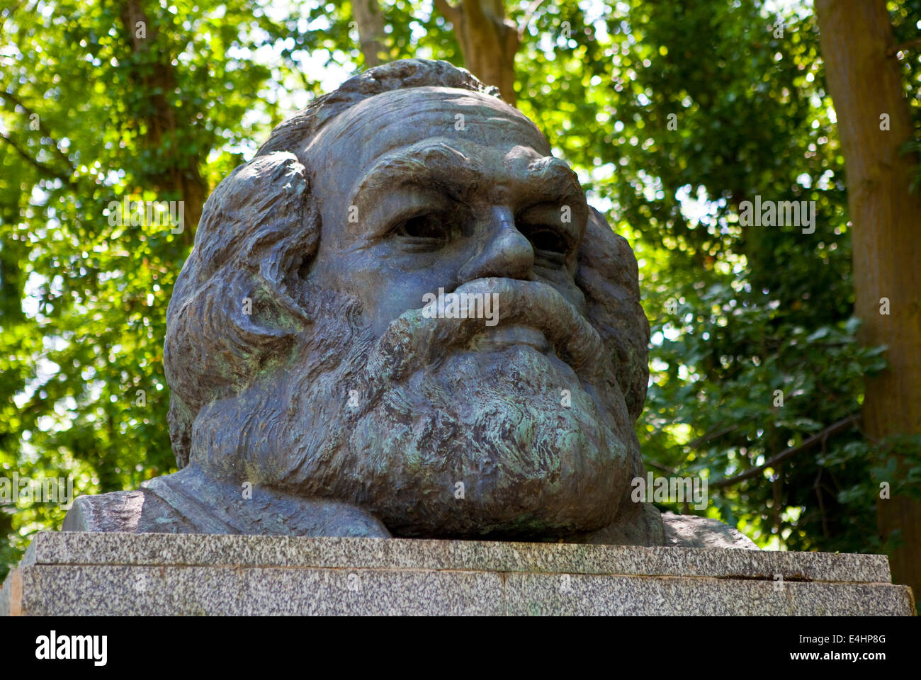
[(484, 224), (485, 245), (461, 268), (461, 282), (486, 276), (534, 278), (534, 249), (515, 227), (515, 216), (506, 205), (495, 205)]

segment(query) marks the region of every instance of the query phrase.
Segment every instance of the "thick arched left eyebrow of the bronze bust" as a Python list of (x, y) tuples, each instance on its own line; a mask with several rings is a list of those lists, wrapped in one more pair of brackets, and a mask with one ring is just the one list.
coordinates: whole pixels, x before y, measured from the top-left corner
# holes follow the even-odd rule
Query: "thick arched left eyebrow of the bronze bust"
[(459, 198), (479, 181), (470, 158), (444, 142), (425, 140), (380, 158), (365, 173), (352, 194), (399, 184), (436, 185)]

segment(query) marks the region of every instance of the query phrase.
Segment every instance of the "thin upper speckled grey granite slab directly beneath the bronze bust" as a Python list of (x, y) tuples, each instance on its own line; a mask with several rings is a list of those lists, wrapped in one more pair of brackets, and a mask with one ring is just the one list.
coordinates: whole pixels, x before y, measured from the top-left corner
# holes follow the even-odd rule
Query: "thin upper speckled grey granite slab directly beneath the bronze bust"
[(166, 533), (41, 532), (22, 565), (124, 564), (461, 569), (888, 583), (881, 555), (755, 550)]

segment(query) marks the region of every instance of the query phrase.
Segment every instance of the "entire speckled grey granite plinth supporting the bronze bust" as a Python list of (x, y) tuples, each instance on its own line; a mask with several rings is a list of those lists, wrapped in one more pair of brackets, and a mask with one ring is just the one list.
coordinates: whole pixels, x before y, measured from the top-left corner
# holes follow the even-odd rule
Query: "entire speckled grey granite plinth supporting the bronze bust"
[(3, 614), (910, 616), (879, 555), (39, 533)]

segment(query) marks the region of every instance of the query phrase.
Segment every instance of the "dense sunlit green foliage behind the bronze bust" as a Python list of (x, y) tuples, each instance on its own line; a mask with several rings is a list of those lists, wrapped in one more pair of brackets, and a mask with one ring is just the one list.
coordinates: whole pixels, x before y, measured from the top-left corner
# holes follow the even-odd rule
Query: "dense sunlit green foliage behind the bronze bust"
[[(759, 545), (880, 550), (880, 480), (916, 488), (921, 462), (892, 479), (892, 444), (853, 419), (714, 486), (856, 415), (864, 376), (884, 366), (855, 339), (844, 158), (808, 3), (507, 5), (529, 18), (519, 108), (640, 262), (647, 465), (705, 475), (705, 513)], [(125, 19), (137, 7), (143, 49)], [(462, 64), (431, 3), (381, 7), (391, 58)], [(109, 205), (210, 191), (274, 123), (362, 68), (351, 6), (5, 0), (0, 21), (0, 474), (137, 487), (175, 465), (162, 341), (192, 229), (112, 225)], [(892, 21), (910, 40), (921, 2), (893, 4)], [(921, 59), (904, 64), (916, 112)], [(756, 195), (814, 201), (814, 232), (742, 226)], [(64, 515), (0, 510), (6, 565)]]

